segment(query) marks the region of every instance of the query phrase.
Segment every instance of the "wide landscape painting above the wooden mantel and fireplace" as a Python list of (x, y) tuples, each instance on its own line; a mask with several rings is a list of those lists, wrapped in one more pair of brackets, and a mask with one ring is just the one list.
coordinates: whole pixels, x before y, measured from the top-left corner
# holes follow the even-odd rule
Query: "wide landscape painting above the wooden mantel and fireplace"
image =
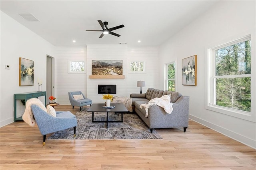
[(92, 60), (92, 75), (123, 75), (123, 60)]

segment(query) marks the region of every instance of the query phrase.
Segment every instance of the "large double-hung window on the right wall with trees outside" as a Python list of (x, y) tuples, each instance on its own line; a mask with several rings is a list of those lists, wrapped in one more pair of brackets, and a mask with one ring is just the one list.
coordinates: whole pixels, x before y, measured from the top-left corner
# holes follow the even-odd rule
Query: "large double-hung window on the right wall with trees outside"
[(250, 36), (208, 49), (208, 106), (250, 114)]

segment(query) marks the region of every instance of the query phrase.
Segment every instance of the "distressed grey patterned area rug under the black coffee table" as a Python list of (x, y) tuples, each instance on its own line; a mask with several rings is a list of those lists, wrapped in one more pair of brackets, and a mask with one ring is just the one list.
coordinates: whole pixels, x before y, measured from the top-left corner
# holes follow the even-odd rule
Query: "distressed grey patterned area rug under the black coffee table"
[[(49, 139), (162, 139), (162, 137), (153, 130), (150, 133), (148, 126), (140, 119), (136, 113), (123, 113), (123, 122), (108, 123), (92, 123), (92, 112), (82, 110), (77, 112), (76, 118), (78, 126), (76, 126), (76, 137), (74, 137), (73, 128), (55, 132)], [(121, 120), (121, 114), (108, 112), (109, 120)], [(94, 112), (95, 121), (106, 120), (106, 113)]]

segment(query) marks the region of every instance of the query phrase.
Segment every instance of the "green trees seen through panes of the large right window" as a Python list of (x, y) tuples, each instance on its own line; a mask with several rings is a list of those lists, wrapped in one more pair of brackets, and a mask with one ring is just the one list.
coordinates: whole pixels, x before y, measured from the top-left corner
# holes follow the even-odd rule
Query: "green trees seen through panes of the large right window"
[(251, 40), (215, 50), (215, 104), (251, 111)]

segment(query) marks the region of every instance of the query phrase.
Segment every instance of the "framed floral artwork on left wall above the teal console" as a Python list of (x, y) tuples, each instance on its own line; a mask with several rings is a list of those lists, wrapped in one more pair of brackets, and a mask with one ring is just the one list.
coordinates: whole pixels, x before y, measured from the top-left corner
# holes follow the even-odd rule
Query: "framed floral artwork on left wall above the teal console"
[(19, 68), (19, 85), (33, 86), (34, 85), (34, 61), (20, 57)]

